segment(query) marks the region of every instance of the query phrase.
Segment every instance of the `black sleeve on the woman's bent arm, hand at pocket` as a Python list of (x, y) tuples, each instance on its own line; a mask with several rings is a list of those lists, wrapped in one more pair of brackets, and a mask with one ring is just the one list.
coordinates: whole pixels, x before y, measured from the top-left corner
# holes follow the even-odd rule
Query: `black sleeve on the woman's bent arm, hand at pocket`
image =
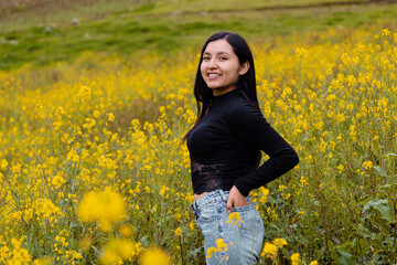
[(277, 179), (298, 165), (299, 158), (293, 148), (249, 103), (230, 107), (227, 119), (238, 137), (269, 156), (258, 169), (236, 179), (234, 184), (243, 195), (247, 197), (253, 189)]

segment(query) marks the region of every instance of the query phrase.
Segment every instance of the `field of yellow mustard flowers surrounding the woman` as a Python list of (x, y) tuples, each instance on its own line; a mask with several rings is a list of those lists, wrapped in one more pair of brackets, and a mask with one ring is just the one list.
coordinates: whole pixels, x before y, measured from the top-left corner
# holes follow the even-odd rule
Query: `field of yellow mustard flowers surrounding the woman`
[[(301, 158), (250, 193), (266, 229), (260, 264), (397, 263), (394, 29), (251, 43), (261, 110)], [(203, 252), (190, 211), (181, 138), (197, 61), (193, 49), (132, 62), (85, 53), (0, 72), (1, 264), (227, 258), (222, 239)]]

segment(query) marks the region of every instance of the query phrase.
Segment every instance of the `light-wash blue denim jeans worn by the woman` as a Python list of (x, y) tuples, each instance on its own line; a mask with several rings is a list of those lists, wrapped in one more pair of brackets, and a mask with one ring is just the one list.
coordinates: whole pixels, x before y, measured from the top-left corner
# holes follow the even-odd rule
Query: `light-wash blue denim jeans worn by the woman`
[[(264, 222), (249, 197), (247, 197), (248, 205), (232, 209), (232, 212), (239, 213), (244, 222), (229, 221), (226, 211), (227, 197), (228, 191), (215, 190), (191, 205), (204, 235), (206, 264), (256, 264), (259, 261), (265, 236)], [(223, 239), (227, 244), (226, 250), (217, 248), (218, 239)], [(208, 258), (207, 250), (212, 246), (217, 250)]]

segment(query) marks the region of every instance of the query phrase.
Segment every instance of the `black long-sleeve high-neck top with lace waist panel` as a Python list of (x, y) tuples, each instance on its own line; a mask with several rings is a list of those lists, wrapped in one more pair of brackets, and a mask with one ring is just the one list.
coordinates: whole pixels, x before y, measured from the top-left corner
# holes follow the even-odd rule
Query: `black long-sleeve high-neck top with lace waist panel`
[[(299, 162), (292, 147), (237, 89), (213, 97), (208, 113), (190, 132), (187, 148), (196, 194), (236, 186), (246, 197)], [(253, 168), (258, 149), (269, 159)]]

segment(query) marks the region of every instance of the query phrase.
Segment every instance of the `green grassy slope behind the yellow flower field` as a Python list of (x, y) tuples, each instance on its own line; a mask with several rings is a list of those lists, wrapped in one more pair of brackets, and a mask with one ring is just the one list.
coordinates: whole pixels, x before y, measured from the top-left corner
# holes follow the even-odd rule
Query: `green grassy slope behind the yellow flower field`
[(216, 31), (249, 42), (397, 18), (390, 1), (15, 0), (0, 3), (0, 70), (72, 61), (84, 51), (122, 55), (200, 49)]

